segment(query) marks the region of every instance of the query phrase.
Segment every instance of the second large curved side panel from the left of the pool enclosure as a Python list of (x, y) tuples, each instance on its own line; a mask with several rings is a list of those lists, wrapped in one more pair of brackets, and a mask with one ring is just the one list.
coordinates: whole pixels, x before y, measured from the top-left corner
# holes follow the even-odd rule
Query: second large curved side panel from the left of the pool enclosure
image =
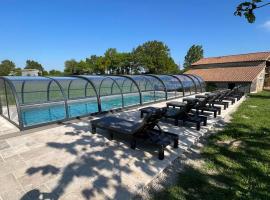
[(81, 117), (98, 112), (95, 88), (79, 77), (52, 77), (63, 88), (67, 97), (68, 117)]

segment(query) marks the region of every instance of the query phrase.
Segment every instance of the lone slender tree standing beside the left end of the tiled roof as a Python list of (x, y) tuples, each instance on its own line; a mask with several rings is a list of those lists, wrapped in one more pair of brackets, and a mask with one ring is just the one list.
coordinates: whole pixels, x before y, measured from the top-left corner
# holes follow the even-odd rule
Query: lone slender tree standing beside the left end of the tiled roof
[(203, 58), (203, 47), (201, 45), (192, 45), (185, 56), (184, 69), (187, 70), (192, 63)]

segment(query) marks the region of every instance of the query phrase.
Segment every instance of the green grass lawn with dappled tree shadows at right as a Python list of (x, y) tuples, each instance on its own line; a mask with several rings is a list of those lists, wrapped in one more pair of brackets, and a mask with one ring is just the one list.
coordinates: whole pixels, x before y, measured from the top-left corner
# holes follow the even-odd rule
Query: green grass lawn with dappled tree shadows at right
[(270, 199), (270, 92), (250, 95), (207, 141), (203, 164), (186, 166), (153, 199)]

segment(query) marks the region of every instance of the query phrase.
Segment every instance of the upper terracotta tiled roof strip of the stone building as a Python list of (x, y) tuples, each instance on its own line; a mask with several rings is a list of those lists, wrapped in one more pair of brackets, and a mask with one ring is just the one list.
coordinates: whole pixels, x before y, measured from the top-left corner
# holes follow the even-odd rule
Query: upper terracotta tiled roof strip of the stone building
[(270, 52), (258, 52), (258, 53), (248, 53), (248, 54), (239, 54), (239, 55), (231, 55), (231, 56), (202, 58), (199, 61), (193, 63), (192, 65), (265, 61), (269, 59), (270, 59)]

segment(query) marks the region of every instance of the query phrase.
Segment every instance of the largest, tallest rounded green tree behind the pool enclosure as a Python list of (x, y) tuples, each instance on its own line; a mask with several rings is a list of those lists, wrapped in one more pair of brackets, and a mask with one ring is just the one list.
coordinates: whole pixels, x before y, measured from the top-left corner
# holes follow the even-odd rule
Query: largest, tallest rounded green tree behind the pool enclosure
[(148, 41), (133, 50), (134, 62), (152, 74), (172, 73), (177, 65), (170, 56), (170, 49), (160, 41)]

